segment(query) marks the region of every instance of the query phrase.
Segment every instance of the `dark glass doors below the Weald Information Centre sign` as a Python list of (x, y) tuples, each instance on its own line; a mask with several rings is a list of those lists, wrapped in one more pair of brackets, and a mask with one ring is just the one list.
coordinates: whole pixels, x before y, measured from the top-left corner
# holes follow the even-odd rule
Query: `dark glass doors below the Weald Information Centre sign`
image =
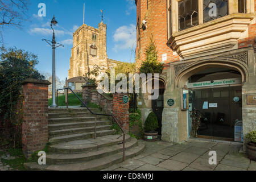
[(234, 125), (242, 120), (241, 90), (241, 86), (228, 86), (189, 91), (192, 108), (201, 113), (199, 137), (233, 140)]

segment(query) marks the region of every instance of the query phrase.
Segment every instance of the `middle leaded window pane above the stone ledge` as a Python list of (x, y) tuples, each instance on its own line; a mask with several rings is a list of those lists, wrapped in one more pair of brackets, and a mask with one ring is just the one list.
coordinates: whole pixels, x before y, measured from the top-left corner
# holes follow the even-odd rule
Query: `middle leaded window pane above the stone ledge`
[(228, 0), (204, 0), (204, 22), (228, 15)]

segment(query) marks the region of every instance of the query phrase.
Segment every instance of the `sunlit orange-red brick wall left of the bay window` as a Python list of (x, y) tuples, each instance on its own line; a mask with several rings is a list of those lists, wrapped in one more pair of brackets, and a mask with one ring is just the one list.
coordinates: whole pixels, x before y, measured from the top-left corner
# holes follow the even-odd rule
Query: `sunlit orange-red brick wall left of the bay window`
[[(145, 50), (150, 43), (151, 34), (154, 36), (156, 43), (156, 48), (158, 50), (158, 60), (162, 61), (162, 55), (167, 53), (167, 61), (165, 63), (170, 63), (171, 61), (179, 60), (179, 55), (173, 55), (173, 51), (167, 46), (167, 0), (148, 0), (148, 10), (147, 10), (147, 0), (138, 0), (137, 2), (137, 20), (138, 17), (142, 20), (147, 21), (147, 29), (141, 29), (141, 54), (140, 57), (137, 53), (137, 68), (141, 65), (142, 61), (146, 59)], [(139, 57), (139, 59), (138, 59)]]

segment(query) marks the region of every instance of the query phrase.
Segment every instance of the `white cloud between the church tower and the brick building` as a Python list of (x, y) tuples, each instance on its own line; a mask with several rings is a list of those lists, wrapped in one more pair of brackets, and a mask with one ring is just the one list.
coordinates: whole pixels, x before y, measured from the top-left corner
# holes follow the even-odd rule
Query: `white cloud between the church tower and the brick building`
[(136, 43), (136, 26), (130, 24), (129, 26), (122, 26), (115, 30), (113, 35), (115, 52), (118, 49), (132, 49)]

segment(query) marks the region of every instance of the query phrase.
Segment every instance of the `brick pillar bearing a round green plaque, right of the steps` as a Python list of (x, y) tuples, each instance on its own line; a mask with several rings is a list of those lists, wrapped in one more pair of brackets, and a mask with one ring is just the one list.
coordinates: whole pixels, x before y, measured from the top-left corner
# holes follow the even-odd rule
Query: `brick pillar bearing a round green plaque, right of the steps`
[(129, 102), (123, 103), (123, 96), (129, 96), (129, 94), (113, 94), (113, 115), (117, 118), (117, 121), (121, 124), (125, 133), (129, 132)]

